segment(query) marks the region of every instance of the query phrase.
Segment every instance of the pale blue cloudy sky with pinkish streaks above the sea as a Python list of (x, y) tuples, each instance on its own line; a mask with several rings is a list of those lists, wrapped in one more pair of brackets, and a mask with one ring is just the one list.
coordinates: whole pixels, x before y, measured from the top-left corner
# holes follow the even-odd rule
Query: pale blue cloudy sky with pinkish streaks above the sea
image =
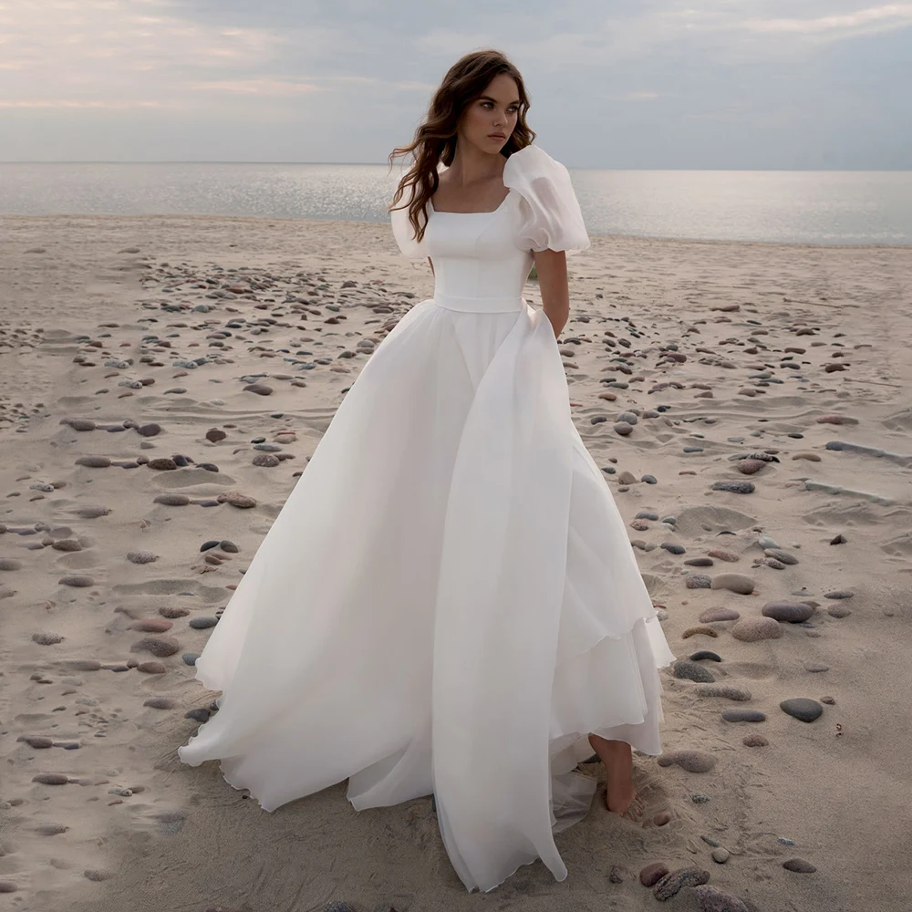
[(570, 168), (912, 169), (877, 0), (0, 0), (0, 161), (385, 163), (485, 47)]

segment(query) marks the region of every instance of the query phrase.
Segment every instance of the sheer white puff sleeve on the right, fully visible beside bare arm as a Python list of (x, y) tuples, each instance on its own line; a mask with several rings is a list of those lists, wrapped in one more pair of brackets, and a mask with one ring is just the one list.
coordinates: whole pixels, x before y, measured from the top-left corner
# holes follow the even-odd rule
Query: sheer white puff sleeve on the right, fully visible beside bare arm
[(517, 192), (516, 245), (522, 250), (564, 250), (568, 256), (590, 246), (570, 172), (538, 146), (516, 150), (503, 166), (503, 184)]

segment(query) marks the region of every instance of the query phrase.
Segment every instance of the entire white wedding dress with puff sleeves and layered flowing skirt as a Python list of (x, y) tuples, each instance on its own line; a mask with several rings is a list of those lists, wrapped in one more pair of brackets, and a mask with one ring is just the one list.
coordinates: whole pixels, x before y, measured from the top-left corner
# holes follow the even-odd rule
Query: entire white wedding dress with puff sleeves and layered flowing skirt
[(589, 246), (564, 165), (528, 146), (493, 212), (434, 212), (403, 254), (434, 296), (361, 369), (212, 629), (219, 711), (179, 749), (267, 811), (348, 780), (356, 809), (434, 794), (469, 889), (541, 858), (596, 782), (589, 732), (661, 753), (674, 661), (570, 415), (532, 250)]

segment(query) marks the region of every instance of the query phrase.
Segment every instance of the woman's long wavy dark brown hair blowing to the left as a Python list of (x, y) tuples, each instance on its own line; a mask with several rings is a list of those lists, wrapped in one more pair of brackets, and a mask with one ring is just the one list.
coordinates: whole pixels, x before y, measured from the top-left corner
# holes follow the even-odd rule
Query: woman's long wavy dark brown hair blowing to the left
[[(523, 77), (507, 57), (497, 50), (473, 51), (460, 57), (454, 63), (440, 83), (440, 88), (430, 99), (427, 116), (415, 131), (415, 139), (408, 146), (397, 146), (389, 153), (389, 167), (394, 159), (409, 152), (414, 158), (409, 171), (399, 181), (396, 195), (389, 204), (388, 212), (404, 209), (397, 203), (407, 189), (411, 189), (409, 202), (409, 222), (415, 233), (415, 240), (420, 242), (428, 223), (427, 204), (437, 192), (439, 184), (438, 165), (442, 161), (448, 168), (456, 154), (456, 136), (462, 114), (466, 108), (484, 94), (492, 78), (506, 73), (516, 81), (519, 91), (519, 112), (516, 127), (501, 150), (504, 158), (513, 152), (528, 146), (535, 138), (525, 122), (525, 112), (529, 109), (529, 96), (525, 90)], [(424, 214), (424, 222), (419, 222), (419, 213)]]

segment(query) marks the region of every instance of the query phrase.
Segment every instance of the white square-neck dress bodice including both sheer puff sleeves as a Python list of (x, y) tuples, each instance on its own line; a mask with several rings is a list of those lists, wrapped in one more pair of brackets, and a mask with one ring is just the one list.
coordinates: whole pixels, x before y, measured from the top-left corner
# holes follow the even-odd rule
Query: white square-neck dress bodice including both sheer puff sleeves
[(513, 152), (503, 166), (503, 183), (507, 195), (492, 212), (437, 212), (428, 204), (420, 242), (409, 223), (408, 198), (400, 202), (405, 208), (390, 213), (401, 252), (430, 257), (440, 306), (519, 310), (534, 251), (575, 254), (589, 246), (569, 173), (544, 150), (525, 146)]

